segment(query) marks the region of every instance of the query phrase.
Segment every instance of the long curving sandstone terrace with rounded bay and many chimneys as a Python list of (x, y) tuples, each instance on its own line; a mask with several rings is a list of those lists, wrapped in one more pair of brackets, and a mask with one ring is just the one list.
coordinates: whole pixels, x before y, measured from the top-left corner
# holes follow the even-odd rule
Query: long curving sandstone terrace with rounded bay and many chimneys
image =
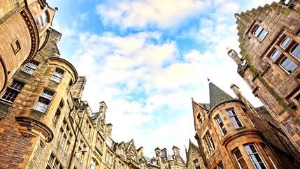
[(0, 95), (0, 168), (185, 169), (178, 147), (173, 155), (148, 158), (134, 140), (117, 143), (106, 122), (105, 102), (92, 112), (81, 96), (86, 78), (62, 59), (62, 34), (48, 40), (34, 59), (20, 66)]

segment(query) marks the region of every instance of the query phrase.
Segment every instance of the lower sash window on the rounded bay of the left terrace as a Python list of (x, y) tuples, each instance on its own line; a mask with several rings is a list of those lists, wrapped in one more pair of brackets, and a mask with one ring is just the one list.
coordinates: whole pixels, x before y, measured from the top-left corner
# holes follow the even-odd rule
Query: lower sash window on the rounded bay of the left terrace
[(40, 98), (38, 98), (38, 103), (36, 103), (34, 109), (40, 112), (46, 112), (53, 95), (54, 93), (52, 91), (44, 90)]

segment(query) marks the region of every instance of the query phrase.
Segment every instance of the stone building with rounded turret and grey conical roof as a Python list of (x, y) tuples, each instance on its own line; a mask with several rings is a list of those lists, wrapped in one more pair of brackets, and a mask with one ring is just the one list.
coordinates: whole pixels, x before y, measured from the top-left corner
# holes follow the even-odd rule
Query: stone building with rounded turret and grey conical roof
[[(199, 163), (218, 169), (296, 169), (300, 164), (299, 154), (285, 141), (287, 136), (269, 112), (264, 107), (254, 108), (236, 85), (231, 88), (238, 98), (232, 98), (210, 82), (210, 103), (192, 100)], [(187, 163), (188, 167), (197, 168), (191, 166), (190, 159)]]

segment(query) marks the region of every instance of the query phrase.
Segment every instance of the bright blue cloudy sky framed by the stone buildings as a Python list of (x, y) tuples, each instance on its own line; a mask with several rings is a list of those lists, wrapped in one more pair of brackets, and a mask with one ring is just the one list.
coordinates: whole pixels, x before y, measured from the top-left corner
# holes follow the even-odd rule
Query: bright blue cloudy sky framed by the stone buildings
[(185, 157), (194, 139), (192, 98), (209, 102), (208, 81), (234, 97), (240, 87), (262, 105), (236, 73), (227, 47), (238, 49), (234, 13), (270, 0), (48, 0), (62, 33), (59, 51), (87, 77), (83, 100), (94, 112), (108, 105), (113, 140), (144, 147), (176, 145)]

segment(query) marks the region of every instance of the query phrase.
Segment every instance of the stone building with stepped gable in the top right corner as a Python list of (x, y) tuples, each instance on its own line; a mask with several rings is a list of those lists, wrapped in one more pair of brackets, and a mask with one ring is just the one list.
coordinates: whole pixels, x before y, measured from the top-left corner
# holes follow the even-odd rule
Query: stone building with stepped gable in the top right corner
[(300, 1), (272, 3), (236, 14), (238, 73), (292, 143), (300, 147)]

